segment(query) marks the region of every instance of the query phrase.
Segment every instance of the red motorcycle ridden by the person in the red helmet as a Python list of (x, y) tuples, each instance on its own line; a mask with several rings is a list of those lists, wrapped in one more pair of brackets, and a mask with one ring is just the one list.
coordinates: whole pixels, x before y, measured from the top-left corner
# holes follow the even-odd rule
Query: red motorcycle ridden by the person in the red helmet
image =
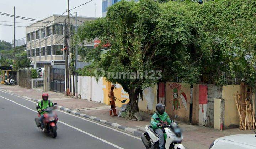
[[(54, 103), (56, 105), (56, 103)], [(47, 112), (44, 113), (44, 128), (46, 132), (50, 133), (53, 138), (56, 138), (57, 136), (57, 121), (58, 121), (58, 116), (57, 113), (54, 111), (56, 109), (56, 106), (53, 107), (47, 107), (46, 109), (43, 109), (41, 112)], [(38, 117), (40, 117), (40, 113), (38, 113)], [(43, 130), (43, 127), (41, 126), (41, 123), (39, 121), (39, 118), (35, 118), (35, 122), (38, 128)]]

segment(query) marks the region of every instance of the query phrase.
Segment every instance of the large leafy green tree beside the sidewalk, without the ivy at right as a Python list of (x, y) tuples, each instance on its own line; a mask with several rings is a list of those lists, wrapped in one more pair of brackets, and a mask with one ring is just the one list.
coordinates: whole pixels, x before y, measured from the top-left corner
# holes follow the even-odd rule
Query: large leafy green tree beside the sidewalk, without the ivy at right
[[(121, 0), (108, 8), (106, 17), (84, 23), (76, 38), (79, 42), (101, 40), (98, 48), (87, 49), (86, 60), (94, 61), (90, 68), (103, 68), (108, 81), (122, 85), (137, 112), (139, 93), (159, 79), (198, 80), (199, 69), (194, 65), (198, 57), (194, 54), (191, 59), (195, 34), (193, 15), (185, 3)], [(111, 50), (102, 54), (105, 44)], [(119, 78), (120, 72), (135, 76), (143, 72), (144, 77)], [(145, 77), (145, 72), (155, 74)]]

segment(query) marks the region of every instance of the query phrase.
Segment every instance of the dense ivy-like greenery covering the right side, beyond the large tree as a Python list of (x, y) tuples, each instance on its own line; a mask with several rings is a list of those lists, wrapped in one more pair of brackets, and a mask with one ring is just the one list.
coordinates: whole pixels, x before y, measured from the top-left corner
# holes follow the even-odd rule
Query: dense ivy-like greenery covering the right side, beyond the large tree
[(197, 44), (208, 49), (201, 66), (209, 82), (234, 84), (243, 79), (255, 86), (255, 6), (251, 0), (219, 0), (188, 7), (196, 16)]

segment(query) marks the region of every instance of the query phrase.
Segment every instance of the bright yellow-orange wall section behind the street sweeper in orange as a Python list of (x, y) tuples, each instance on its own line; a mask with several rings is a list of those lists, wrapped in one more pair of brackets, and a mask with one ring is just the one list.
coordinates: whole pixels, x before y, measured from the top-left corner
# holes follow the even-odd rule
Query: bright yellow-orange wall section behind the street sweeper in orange
[[(106, 88), (103, 88), (103, 92), (104, 92), (104, 103), (105, 103), (106, 105), (110, 105), (110, 98), (108, 97), (108, 92), (110, 91), (110, 88), (111, 88), (112, 83), (107, 82), (106, 79), (103, 78), (103, 85), (106, 86)], [(122, 88), (121, 85), (117, 84), (116, 86), (117, 86), (117, 88), (114, 89), (114, 96), (115, 96), (116, 98), (118, 98), (119, 100), (121, 100), (121, 101), (124, 100), (124, 99), (127, 99), (125, 103), (121, 103), (121, 101), (119, 101), (119, 100), (116, 99), (116, 102), (115, 102), (115, 103), (116, 103), (116, 106), (117, 106), (117, 107), (121, 107), (122, 104), (127, 104), (127, 103), (129, 103), (130, 100), (129, 100), (129, 98), (127, 98), (127, 97), (129, 97), (129, 95), (128, 95), (128, 93), (124, 92), (124, 90), (123, 90), (123, 88)]]

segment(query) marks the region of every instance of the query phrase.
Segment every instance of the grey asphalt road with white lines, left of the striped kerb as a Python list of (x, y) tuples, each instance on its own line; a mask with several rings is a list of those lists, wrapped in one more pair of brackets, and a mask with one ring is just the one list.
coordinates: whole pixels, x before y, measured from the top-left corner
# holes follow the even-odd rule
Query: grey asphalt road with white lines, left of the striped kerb
[(0, 149), (143, 149), (141, 140), (106, 125), (57, 111), (57, 138), (37, 128), (36, 103), (0, 91)]

